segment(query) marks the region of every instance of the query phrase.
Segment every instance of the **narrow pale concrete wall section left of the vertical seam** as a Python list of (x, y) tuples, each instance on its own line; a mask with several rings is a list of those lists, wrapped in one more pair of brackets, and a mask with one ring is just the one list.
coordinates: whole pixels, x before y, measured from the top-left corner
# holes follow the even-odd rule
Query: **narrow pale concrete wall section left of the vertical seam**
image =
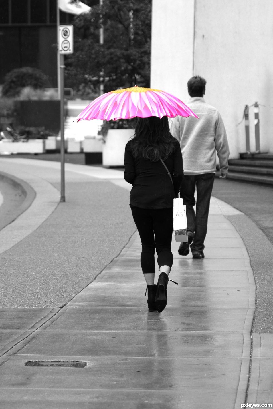
[(188, 98), (194, 56), (194, 0), (153, 0), (151, 88)]

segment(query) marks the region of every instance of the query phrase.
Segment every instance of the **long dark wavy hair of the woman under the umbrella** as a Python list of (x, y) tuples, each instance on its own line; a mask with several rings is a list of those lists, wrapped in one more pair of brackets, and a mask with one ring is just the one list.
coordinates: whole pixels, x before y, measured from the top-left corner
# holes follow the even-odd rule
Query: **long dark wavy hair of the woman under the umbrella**
[(152, 162), (165, 160), (175, 149), (175, 139), (169, 130), (167, 117), (138, 118), (135, 135), (131, 140), (131, 152)]

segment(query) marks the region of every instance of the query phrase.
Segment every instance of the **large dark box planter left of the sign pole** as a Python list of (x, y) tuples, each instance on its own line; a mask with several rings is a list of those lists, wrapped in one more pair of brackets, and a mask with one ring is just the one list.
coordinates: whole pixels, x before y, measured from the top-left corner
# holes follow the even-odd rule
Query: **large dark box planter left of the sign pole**
[(61, 129), (59, 99), (15, 101), (14, 110), (16, 126), (44, 127), (52, 133)]

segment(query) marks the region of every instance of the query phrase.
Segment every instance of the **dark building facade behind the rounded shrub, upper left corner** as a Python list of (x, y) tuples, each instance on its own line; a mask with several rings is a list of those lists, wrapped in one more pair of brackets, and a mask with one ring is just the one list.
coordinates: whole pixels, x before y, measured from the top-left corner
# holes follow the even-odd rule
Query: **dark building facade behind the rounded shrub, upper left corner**
[[(56, 17), (56, 0), (0, 0), (0, 84), (14, 68), (35, 67), (56, 88)], [(61, 25), (73, 18), (60, 11)]]

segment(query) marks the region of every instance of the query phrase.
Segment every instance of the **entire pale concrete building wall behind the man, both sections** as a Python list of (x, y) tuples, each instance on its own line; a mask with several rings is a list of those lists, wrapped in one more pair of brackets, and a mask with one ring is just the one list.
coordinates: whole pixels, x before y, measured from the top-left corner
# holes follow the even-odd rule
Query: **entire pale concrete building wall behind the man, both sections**
[[(219, 7), (221, 5), (221, 7)], [(273, 2), (271, 0), (153, 0), (151, 86), (187, 101), (187, 80), (207, 80), (205, 100), (226, 125), (230, 158), (246, 151), (243, 117), (260, 105), (261, 151), (273, 152)]]

